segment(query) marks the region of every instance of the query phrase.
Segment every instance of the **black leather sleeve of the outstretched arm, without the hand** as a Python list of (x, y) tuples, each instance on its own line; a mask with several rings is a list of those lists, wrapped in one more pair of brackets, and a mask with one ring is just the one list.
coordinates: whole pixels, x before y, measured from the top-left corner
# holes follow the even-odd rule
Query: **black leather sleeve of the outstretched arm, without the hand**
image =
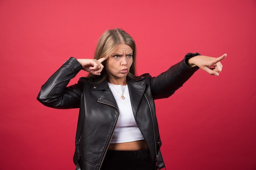
[(166, 72), (151, 78), (150, 85), (154, 99), (168, 98), (198, 70), (198, 67), (190, 68), (187, 61), (191, 57), (201, 55), (188, 53), (182, 61), (171, 66)]

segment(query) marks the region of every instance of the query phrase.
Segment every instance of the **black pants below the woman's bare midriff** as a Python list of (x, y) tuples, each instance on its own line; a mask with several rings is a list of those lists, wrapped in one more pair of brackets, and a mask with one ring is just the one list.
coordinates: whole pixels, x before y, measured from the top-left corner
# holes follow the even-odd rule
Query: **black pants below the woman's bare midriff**
[(148, 150), (108, 150), (101, 170), (157, 170)]

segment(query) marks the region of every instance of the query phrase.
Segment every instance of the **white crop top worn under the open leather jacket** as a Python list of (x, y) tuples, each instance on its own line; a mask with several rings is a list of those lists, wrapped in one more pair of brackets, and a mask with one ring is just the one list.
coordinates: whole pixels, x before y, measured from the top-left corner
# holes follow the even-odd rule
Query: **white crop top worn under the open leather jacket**
[[(117, 126), (110, 143), (116, 144), (143, 140), (144, 137), (142, 136), (133, 116), (128, 85), (123, 86), (108, 83), (108, 86), (115, 97), (120, 112)], [(124, 99), (121, 99), (123, 91)]]

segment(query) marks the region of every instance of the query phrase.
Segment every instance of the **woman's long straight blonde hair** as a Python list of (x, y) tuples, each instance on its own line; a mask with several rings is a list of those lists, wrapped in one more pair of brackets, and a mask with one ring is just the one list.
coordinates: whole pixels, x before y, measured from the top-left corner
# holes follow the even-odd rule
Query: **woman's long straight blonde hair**
[[(127, 76), (129, 77), (135, 77), (135, 68), (136, 68), (136, 45), (135, 41), (132, 39), (132, 37), (126, 33), (124, 30), (116, 28), (112, 30), (107, 30), (105, 33), (103, 33), (98, 41), (95, 53), (94, 53), (94, 59), (100, 59), (105, 56), (110, 56), (117, 48), (119, 44), (126, 44), (132, 48), (132, 65), (130, 67), (130, 72)], [(100, 76), (96, 76), (94, 74), (89, 73), (88, 78), (99, 78), (99, 82), (102, 82), (105, 80), (108, 76), (107, 71), (105, 69), (106, 60), (102, 62), (104, 65), (104, 68), (101, 72)]]

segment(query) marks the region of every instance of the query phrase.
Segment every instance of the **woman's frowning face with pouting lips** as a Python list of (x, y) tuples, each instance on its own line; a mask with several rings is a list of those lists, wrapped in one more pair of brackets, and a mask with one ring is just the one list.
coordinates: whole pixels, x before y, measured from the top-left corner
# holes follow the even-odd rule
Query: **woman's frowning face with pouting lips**
[(126, 80), (132, 62), (132, 48), (126, 44), (119, 44), (106, 62), (110, 83), (111, 81)]

